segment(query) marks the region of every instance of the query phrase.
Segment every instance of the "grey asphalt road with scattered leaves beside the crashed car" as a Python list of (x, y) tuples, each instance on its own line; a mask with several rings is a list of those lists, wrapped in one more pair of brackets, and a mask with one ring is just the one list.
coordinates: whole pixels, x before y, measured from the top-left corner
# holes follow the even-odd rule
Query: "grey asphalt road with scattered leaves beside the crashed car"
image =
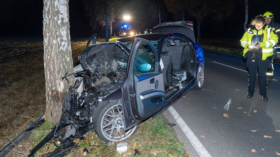
[(242, 57), (204, 53), (203, 89), (189, 91), (164, 112), (186, 151), (191, 157), (279, 157), (280, 65), (274, 65), (264, 102), (258, 84), (254, 97), (245, 98), (248, 73)]

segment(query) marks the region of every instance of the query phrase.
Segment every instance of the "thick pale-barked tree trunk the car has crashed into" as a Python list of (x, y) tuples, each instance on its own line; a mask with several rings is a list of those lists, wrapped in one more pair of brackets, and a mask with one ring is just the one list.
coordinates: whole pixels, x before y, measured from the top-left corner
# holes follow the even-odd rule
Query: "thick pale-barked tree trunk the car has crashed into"
[[(43, 2), (46, 120), (57, 123), (69, 88), (69, 84), (62, 80), (62, 77), (67, 72), (73, 72), (69, 0), (43, 0)], [(72, 84), (74, 78), (69, 80)]]

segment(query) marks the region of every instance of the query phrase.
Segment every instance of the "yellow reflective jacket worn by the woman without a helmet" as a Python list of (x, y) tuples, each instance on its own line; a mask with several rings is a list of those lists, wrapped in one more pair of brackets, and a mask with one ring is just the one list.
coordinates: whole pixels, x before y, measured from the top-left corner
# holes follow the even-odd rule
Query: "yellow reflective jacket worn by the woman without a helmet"
[(265, 26), (264, 29), (257, 30), (255, 26), (251, 26), (245, 31), (241, 38), (241, 46), (244, 47), (243, 56), (249, 51), (248, 46), (251, 45), (253, 35), (261, 35), (263, 33), (263, 41), (259, 42), (262, 48), (262, 60), (273, 55), (273, 48), (278, 43), (278, 36), (270, 26)]

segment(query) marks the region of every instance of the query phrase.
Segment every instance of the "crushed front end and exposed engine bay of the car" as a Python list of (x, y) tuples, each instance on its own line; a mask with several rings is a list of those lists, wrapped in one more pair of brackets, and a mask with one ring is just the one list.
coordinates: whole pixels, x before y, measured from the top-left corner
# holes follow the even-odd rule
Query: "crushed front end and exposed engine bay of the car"
[[(77, 71), (70, 74), (74, 75), (76, 80), (68, 90), (60, 121), (35, 146), (28, 157), (32, 157), (49, 140), (56, 143), (57, 149), (47, 156), (66, 153), (67, 150), (75, 147), (73, 139), (81, 138), (87, 131), (94, 130), (93, 119), (96, 118), (95, 111), (100, 107), (101, 102), (108, 99), (121, 99), (120, 93), (117, 96), (110, 96), (110, 94), (120, 92), (122, 78), (126, 74), (124, 70), (126, 61), (123, 58), (127, 58), (128, 54), (117, 42), (105, 46), (103, 44), (89, 46), (77, 57), (81, 65), (75, 68)], [(67, 79), (70, 75), (65, 75), (63, 78)]]

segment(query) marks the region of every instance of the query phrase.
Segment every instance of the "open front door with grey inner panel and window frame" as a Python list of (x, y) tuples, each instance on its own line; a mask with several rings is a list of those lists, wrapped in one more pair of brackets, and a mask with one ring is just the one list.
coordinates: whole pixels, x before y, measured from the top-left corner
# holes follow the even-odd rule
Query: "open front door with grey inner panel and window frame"
[(155, 47), (148, 40), (135, 38), (129, 55), (124, 114), (126, 127), (149, 118), (165, 103), (163, 67)]

